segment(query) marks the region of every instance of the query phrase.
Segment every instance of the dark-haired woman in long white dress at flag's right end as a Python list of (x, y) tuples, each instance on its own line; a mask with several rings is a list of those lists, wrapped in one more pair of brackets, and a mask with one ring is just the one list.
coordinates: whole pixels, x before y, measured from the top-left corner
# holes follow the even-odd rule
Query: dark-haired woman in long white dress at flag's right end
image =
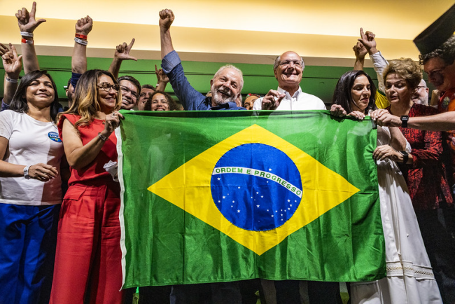
[[(393, 86), (386, 95), (393, 95)], [(346, 72), (335, 88), (332, 114), (363, 119), (374, 109), (374, 83), (363, 71)], [(380, 111), (374, 110), (371, 116)], [(406, 161), (410, 146), (398, 127), (378, 127), (377, 177), (386, 243), (387, 276), (374, 282), (351, 283), (351, 303), (442, 303), (426, 254), (405, 179), (395, 162)]]

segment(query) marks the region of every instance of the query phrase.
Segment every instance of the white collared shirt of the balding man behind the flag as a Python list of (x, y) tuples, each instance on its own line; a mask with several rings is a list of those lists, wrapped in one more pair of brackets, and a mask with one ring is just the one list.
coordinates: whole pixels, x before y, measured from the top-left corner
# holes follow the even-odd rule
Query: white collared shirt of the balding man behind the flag
[[(302, 88), (299, 87), (297, 92), (294, 93), (293, 96), (283, 90), (282, 88), (278, 87), (278, 92), (285, 94), (286, 96), (281, 99), (281, 102), (276, 108), (276, 110), (281, 111), (297, 111), (297, 110), (326, 110), (324, 102), (311, 94), (307, 94), (302, 92)], [(262, 110), (262, 99), (258, 98), (255, 100), (253, 104), (253, 110)]]

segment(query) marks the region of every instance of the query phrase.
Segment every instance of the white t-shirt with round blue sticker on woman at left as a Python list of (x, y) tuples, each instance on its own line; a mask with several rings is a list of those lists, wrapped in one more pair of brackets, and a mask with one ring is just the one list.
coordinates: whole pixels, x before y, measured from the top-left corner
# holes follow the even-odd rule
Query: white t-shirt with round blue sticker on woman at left
[[(0, 136), (8, 139), (3, 160), (16, 165), (43, 163), (60, 170), (64, 156), (55, 123), (44, 123), (25, 113), (0, 112)], [(24, 177), (0, 177), (0, 203), (15, 205), (55, 205), (62, 202), (62, 179), (50, 181)]]

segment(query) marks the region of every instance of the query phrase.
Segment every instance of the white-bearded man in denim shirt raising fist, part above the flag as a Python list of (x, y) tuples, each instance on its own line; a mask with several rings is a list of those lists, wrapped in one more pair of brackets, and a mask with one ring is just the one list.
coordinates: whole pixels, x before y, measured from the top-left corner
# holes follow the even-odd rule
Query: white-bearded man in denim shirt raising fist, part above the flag
[(183, 73), (179, 55), (172, 46), (169, 28), (174, 21), (171, 10), (160, 11), (161, 67), (186, 110), (244, 110), (235, 99), (244, 86), (243, 74), (237, 67), (227, 64), (221, 67), (210, 81), (211, 97), (205, 97), (193, 88)]

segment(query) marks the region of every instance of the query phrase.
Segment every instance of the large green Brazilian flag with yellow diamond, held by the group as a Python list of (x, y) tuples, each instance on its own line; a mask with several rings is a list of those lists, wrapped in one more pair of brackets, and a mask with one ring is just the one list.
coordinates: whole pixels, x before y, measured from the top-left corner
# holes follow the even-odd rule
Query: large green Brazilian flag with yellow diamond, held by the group
[(371, 120), (121, 113), (124, 288), (385, 276)]

